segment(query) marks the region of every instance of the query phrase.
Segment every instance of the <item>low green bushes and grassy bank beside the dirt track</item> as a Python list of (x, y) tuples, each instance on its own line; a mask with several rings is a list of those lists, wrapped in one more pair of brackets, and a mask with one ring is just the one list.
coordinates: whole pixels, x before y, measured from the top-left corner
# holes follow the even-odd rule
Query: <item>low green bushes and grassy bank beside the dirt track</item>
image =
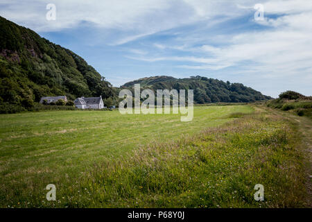
[(312, 96), (304, 96), (298, 92), (282, 92), (278, 99), (268, 101), (267, 106), (283, 111), (290, 110), (299, 116), (312, 117)]

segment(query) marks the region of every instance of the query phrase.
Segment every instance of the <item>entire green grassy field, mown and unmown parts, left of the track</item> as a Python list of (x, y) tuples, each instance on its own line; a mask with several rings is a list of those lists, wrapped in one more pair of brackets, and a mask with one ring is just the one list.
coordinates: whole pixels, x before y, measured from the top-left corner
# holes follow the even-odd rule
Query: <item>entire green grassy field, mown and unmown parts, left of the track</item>
[[(190, 122), (58, 111), (1, 115), (0, 123), (0, 207), (306, 205), (297, 126), (264, 108), (195, 107)], [(48, 184), (56, 201), (46, 200)]]

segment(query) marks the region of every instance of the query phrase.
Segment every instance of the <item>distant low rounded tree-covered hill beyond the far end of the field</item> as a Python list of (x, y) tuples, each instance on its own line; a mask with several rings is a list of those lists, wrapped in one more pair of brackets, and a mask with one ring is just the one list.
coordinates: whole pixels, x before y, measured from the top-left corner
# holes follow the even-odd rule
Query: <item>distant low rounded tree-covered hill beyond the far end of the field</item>
[(272, 99), (241, 83), (226, 83), (214, 78), (191, 76), (190, 78), (173, 78), (171, 76), (153, 76), (140, 78), (125, 83), (121, 88), (131, 89), (140, 83), (142, 88), (153, 89), (193, 89), (195, 103), (247, 103)]

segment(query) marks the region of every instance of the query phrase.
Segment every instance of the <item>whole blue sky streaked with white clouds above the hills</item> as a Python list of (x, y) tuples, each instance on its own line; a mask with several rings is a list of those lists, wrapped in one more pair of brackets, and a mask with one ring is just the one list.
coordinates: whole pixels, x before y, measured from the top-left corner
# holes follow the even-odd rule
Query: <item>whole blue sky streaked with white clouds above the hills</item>
[(71, 49), (117, 87), (199, 75), (273, 97), (312, 95), (311, 0), (0, 0), (0, 15)]

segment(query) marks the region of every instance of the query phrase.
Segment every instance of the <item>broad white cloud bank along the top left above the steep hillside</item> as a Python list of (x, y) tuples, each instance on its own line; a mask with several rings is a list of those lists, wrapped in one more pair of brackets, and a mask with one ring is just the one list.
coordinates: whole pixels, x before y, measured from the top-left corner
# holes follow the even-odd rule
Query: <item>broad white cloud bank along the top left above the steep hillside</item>
[[(245, 3), (246, 1), (239, 1)], [(214, 17), (233, 17), (240, 9), (231, 1), (198, 0), (54, 0), (56, 20), (46, 20), (46, 4), (50, 0), (2, 0), (0, 14), (17, 24), (37, 32), (61, 31), (81, 22), (93, 24), (107, 32), (121, 31), (119, 39), (110, 44), (124, 44), (159, 31)]]

